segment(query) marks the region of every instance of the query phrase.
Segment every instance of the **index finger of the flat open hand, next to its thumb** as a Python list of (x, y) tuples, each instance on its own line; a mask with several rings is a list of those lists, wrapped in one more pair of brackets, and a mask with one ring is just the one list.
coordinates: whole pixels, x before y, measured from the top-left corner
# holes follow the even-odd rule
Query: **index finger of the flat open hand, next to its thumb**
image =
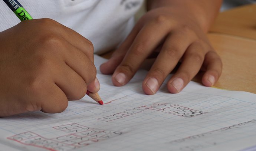
[(125, 85), (134, 76), (142, 62), (157, 48), (169, 33), (170, 27), (164, 19), (157, 19), (142, 27), (131, 47), (116, 68), (112, 82), (115, 86)]

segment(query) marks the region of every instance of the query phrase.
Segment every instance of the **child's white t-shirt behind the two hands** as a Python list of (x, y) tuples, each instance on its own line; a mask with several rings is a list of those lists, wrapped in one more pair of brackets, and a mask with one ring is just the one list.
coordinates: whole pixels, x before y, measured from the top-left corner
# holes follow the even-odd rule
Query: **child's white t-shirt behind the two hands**
[[(89, 39), (95, 53), (114, 49), (134, 26), (143, 0), (19, 0), (34, 19), (50, 18)], [(20, 20), (0, 0), (0, 32)], [(39, 31), (40, 32), (40, 31)]]

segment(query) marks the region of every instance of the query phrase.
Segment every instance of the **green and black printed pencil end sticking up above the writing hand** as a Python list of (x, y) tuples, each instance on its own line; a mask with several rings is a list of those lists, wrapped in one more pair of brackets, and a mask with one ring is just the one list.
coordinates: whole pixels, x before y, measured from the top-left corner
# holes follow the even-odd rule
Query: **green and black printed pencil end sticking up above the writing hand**
[(17, 0), (3, 0), (4, 3), (9, 6), (9, 8), (16, 14), (16, 16), (21, 20), (33, 19), (29, 13), (22, 7), (22, 5)]

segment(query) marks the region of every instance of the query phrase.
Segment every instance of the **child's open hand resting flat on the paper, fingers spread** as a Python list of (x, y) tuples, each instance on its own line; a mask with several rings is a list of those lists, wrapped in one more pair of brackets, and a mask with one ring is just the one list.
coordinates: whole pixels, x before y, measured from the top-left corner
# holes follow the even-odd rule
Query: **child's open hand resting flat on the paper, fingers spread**
[(181, 66), (167, 83), (171, 93), (180, 92), (200, 69), (206, 71), (202, 78), (206, 86), (212, 86), (221, 74), (220, 57), (197, 19), (175, 7), (160, 7), (145, 14), (111, 59), (101, 65), (101, 72), (113, 73), (115, 86), (125, 85), (152, 52), (159, 54), (142, 83), (149, 95), (158, 91), (179, 61)]

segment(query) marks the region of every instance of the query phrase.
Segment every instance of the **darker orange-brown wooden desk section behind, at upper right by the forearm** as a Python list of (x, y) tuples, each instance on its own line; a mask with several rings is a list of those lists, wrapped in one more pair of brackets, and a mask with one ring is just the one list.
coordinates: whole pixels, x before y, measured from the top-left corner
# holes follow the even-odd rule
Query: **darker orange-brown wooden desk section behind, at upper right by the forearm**
[(256, 39), (256, 4), (221, 12), (210, 32)]

